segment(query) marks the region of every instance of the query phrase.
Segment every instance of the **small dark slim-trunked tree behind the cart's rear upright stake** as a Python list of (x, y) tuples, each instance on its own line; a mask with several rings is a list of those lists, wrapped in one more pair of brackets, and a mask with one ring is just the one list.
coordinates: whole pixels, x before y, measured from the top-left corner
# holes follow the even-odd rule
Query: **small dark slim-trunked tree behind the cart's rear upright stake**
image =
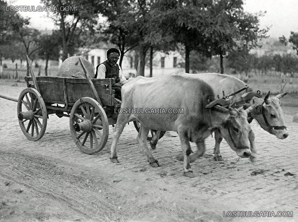
[(38, 55), (42, 59), (46, 60), (46, 65), (44, 67), (45, 75), (48, 75), (48, 62), (49, 59), (58, 60), (59, 59), (59, 43), (61, 42), (61, 34), (57, 30), (53, 31), (51, 35), (43, 34), (39, 39), (39, 51)]

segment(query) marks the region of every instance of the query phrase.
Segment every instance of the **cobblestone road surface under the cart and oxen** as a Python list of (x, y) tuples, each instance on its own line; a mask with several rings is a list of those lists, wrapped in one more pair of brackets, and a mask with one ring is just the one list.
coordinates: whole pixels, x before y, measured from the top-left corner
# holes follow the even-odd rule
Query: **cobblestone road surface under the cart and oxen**
[[(21, 88), (1, 86), (0, 94), (18, 98)], [(10, 90), (10, 91), (9, 91)], [(176, 158), (181, 155), (181, 147), (176, 132), (167, 132), (159, 141), (153, 156), (159, 160), (159, 168), (151, 168), (138, 147), (137, 132), (133, 124), (125, 127), (119, 142), (120, 163), (109, 160), (112, 126), (105, 148), (94, 155), (83, 154), (74, 144), (69, 119), (50, 115), (46, 133), (37, 142), (28, 140), (21, 132), (16, 117), (16, 102), (0, 98), (0, 144), (10, 149), (32, 152), (55, 157), (61, 161), (75, 162), (90, 169), (108, 169), (113, 177), (135, 177), (139, 181), (153, 181), (169, 192), (169, 196), (183, 193), (183, 202), (193, 201), (214, 212), (222, 220), (232, 221), (298, 221), (298, 125), (292, 123), (292, 116), (286, 115), (289, 137), (279, 140), (262, 130), (255, 121), (258, 147), (257, 162), (239, 159), (223, 140), (221, 153), (223, 162), (213, 160), (214, 138), (206, 140), (205, 154), (191, 164), (195, 178), (183, 176), (182, 162)], [(195, 144), (192, 144), (195, 149)], [(288, 218), (242, 218), (223, 216), (223, 211), (289, 211)]]

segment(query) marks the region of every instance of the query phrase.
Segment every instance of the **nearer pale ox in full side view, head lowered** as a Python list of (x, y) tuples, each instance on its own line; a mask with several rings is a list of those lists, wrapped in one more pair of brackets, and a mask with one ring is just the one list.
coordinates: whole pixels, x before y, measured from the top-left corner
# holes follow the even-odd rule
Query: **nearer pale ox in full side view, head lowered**
[[(144, 93), (145, 92), (145, 93)], [(205, 151), (204, 139), (211, 134), (211, 130), (218, 129), (229, 146), (240, 157), (249, 157), (250, 125), (247, 113), (242, 108), (229, 110), (216, 105), (211, 109), (205, 106), (209, 100), (214, 100), (212, 88), (202, 80), (191, 76), (170, 75), (153, 78), (138, 76), (122, 87), (121, 112), (118, 114), (117, 124), (111, 145), (110, 160), (119, 162), (116, 146), (126, 123), (137, 120), (140, 130), (137, 136), (148, 162), (152, 167), (158, 167), (158, 161), (149, 151), (146, 139), (150, 129), (178, 132), (181, 148), (184, 154), (184, 175), (193, 177), (189, 156), (190, 142), (195, 142), (198, 155)], [(170, 113), (129, 113), (127, 108), (145, 110), (155, 108), (183, 108), (182, 114)]]

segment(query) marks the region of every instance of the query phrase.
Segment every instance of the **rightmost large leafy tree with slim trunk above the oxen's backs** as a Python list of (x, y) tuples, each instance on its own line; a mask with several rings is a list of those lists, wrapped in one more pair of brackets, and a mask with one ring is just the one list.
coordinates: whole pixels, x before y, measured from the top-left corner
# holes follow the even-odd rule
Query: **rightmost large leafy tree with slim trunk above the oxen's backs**
[(220, 56), (221, 74), (224, 73), (223, 58), (229, 52), (249, 51), (258, 46), (259, 39), (267, 37), (268, 28), (259, 28), (263, 13), (244, 12), (242, 5), (242, 0), (218, 0), (210, 7), (214, 25), (207, 27), (207, 46), (212, 55)]

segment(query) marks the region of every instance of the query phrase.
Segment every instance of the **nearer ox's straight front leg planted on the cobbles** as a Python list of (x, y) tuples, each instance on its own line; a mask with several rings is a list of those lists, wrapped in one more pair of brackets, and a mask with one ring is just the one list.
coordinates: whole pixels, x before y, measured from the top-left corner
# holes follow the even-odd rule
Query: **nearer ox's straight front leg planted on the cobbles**
[(190, 147), (188, 133), (185, 130), (178, 129), (178, 134), (179, 134), (180, 143), (181, 143), (181, 147), (182, 147), (182, 151), (183, 151), (183, 155), (184, 155), (183, 173), (187, 177), (195, 177), (193, 175), (193, 171), (191, 170), (191, 167), (190, 167), (189, 156), (191, 154), (191, 147)]

